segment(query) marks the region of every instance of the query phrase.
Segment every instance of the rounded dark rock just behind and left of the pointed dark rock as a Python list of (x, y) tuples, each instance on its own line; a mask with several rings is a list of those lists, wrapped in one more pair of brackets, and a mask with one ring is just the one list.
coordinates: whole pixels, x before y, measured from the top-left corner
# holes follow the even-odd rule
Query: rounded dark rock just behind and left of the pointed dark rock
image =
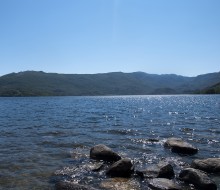
[(121, 157), (109, 147), (99, 144), (91, 148), (90, 158), (103, 161), (118, 161)]

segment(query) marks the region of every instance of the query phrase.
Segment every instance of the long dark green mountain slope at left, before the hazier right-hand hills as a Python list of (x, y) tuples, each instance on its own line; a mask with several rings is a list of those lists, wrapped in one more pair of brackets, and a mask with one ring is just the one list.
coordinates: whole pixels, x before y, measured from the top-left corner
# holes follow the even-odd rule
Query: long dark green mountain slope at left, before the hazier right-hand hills
[(146, 84), (125, 73), (64, 75), (21, 72), (0, 78), (1, 96), (148, 94)]

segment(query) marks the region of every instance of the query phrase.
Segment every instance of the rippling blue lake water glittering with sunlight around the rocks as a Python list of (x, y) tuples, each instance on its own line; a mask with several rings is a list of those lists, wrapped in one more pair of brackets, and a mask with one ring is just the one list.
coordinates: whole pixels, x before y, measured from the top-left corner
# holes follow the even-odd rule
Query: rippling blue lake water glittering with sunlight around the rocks
[[(172, 136), (198, 154), (165, 149)], [(86, 169), (96, 144), (137, 167), (167, 160), (178, 174), (192, 159), (219, 157), (220, 96), (0, 98), (0, 189), (53, 189), (58, 180), (99, 188), (104, 171)], [(220, 177), (211, 178), (220, 188)]]

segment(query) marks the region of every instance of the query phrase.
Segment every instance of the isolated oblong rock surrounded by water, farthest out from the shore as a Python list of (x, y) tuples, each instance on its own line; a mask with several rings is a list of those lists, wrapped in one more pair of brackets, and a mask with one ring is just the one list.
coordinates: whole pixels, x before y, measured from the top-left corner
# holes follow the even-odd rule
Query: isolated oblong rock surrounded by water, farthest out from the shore
[(172, 152), (182, 154), (196, 154), (198, 149), (188, 142), (183, 141), (180, 138), (169, 138), (165, 142), (164, 146), (170, 147)]

